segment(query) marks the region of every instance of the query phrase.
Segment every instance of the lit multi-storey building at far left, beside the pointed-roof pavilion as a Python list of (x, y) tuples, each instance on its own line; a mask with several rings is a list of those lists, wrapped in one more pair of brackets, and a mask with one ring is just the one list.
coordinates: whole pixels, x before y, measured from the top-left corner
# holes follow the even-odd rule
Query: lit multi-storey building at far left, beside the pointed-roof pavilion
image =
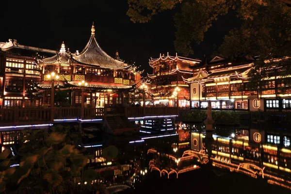
[(55, 54), (55, 50), (20, 45), (12, 39), (0, 42), (0, 108), (39, 106), (41, 99), (29, 90), (32, 82), (41, 81), (36, 58)]

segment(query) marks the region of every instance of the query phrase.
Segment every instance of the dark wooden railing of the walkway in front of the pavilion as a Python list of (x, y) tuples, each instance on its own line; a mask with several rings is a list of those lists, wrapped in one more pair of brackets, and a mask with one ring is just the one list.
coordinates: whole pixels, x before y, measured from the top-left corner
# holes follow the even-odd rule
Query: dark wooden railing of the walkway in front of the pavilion
[(111, 115), (125, 115), (127, 117), (178, 115), (177, 107), (84, 108), (83, 111), (84, 116), (81, 118), (82, 109), (75, 107), (0, 109), (0, 129), (5, 130), (5, 126), (11, 128), (11, 126), (53, 124), (66, 121), (102, 121), (106, 116)]

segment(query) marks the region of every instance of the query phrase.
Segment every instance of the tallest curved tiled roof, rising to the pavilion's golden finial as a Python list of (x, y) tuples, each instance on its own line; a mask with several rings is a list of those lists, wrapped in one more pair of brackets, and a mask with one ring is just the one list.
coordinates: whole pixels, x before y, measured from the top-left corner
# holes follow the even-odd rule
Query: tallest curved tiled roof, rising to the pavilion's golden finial
[(73, 59), (82, 64), (96, 65), (102, 68), (124, 69), (131, 67), (131, 65), (113, 59), (106, 52), (104, 52), (98, 45), (94, 34), (91, 34), (85, 48), (80, 54), (74, 55)]

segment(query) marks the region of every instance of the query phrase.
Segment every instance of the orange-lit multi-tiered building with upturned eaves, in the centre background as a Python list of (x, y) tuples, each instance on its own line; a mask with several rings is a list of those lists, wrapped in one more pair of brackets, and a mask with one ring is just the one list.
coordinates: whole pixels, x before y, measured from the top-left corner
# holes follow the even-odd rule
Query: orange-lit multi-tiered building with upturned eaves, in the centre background
[(174, 89), (180, 88), (178, 93), (178, 106), (190, 106), (187, 99), (190, 98), (189, 85), (183, 78), (193, 76), (192, 67), (200, 63), (200, 60), (189, 59), (179, 56), (160, 55), (158, 59), (150, 59), (149, 65), (153, 68), (153, 74), (148, 75), (151, 79), (151, 93), (154, 104), (176, 106), (176, 97), (172, 97)]

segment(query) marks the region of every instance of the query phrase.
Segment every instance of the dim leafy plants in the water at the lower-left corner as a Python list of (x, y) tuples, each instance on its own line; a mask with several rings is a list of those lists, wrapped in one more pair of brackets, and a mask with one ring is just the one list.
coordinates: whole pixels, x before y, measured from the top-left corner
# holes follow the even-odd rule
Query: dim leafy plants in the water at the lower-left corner
[[(74, 128), (54, 126), (45, 129), (23, 129), (19, 135), (16, 156), (8, 159), (10, 150), (0, 153), (0, 192), (17, 194), (92, 192), (78, 182), (97, 179), (91, 169), (85, 169), (87, 157), (80, 153), (76, 144), (81, 132)], [(10, 167), (12, 164), (18, 167)]]

